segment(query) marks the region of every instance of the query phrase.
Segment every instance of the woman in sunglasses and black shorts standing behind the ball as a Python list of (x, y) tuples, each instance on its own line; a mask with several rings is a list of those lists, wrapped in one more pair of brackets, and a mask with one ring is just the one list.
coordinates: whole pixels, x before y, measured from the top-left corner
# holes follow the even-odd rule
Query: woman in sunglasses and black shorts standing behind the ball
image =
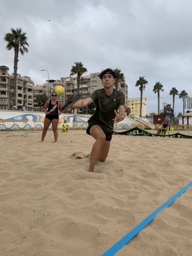
[[(55, 110), (53, 110), (52, 112), (49, 112), (55, 104), (57, 104), (57, 108), (55, 108)], [(47, 108), (48, 110), (46, 110)], [(59, 115), (61, 115), (61, 112), (59, 111), (60, 108), (61, 108), (61, 102), (57, 101), (57, 94), (56, 92), (53, 92), (51, 94), (51, 100), (47, 100), (43, 107), (43, 111), (44, 113), (46, 113), (46, 116), (44, 118), (44, 127), (42, 130), (41, 141), (44, 141), (46, 131), (49, 129), (49, 126), (52, 123), (54, 139), (55, 139), (55, 142), (57, 142), (57, 137), (58, 137), (57, 125), (59, 123)]]

